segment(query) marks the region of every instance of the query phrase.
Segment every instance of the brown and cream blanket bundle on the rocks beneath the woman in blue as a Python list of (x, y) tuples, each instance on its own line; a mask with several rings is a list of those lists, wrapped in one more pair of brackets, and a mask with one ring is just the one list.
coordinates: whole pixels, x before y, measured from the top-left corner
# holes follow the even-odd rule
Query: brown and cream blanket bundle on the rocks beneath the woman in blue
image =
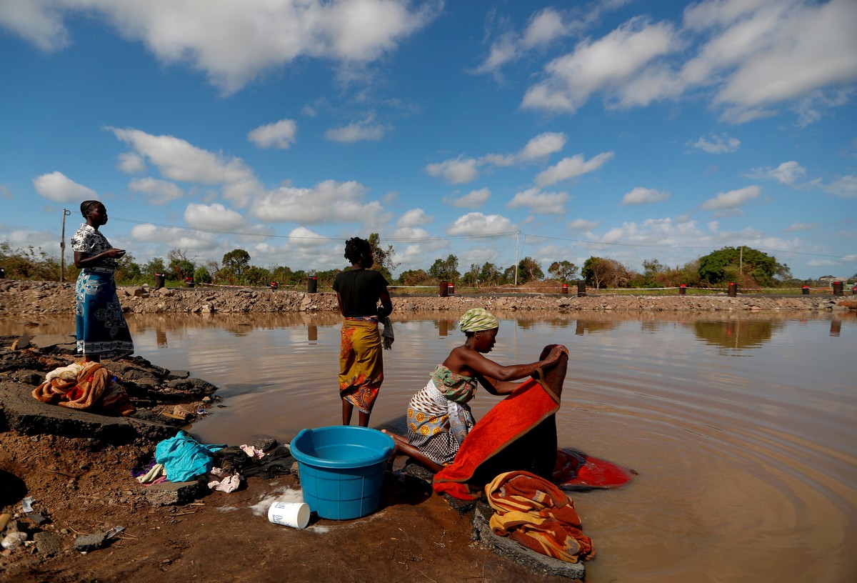
[(69, 364), (45, 375), (45, 382), (33, 389), (33, 397), (69, 409), (134, 414), (128, 393), (111, 377), (100, 363)]

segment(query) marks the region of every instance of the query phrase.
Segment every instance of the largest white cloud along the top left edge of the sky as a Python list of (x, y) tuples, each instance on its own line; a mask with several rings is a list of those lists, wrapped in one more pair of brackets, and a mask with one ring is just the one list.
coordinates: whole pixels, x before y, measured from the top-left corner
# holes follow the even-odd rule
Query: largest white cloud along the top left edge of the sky
[(32, 0), (4, 3), (0, 25), (45, 51), (70, 43), (65, 21), (106, 21), (162, 63), (203, 71), (224, 93), (297, 58), (358, 67), (428, 25), (434, 3), (405, 0)]

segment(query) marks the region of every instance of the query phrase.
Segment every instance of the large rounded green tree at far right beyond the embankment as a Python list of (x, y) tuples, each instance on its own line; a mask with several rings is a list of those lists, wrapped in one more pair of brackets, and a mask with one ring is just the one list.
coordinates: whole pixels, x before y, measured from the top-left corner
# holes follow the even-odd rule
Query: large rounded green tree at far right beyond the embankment
[(699, 258), (699, 278), (711, 284), (728, 280), (770, 287), (776, 285), (775, 277), (790, 275), (788, 265), (752, 247), (724, 247)]

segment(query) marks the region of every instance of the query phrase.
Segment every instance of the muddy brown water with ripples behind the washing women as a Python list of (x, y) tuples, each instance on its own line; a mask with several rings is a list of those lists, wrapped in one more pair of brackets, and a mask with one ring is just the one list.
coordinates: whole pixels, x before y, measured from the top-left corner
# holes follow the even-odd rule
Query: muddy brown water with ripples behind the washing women
[[(394, 322), (381, 424), (463, 340), (458, 315)], [(766, 315), (500, 315), (489, 358), (571, 353), (559, 442), (639, 472), (572, 497), (594, 541), (589, 583), (857, 580), (857, 318)], [(73, 332), (63, 318), (0, 334)], [(219, 386), (202, 442), (287, 442), (339, 423), (339, 317), (130, 316), (136, 353)], [(481, 418), (497, 398), (480, 392)]]

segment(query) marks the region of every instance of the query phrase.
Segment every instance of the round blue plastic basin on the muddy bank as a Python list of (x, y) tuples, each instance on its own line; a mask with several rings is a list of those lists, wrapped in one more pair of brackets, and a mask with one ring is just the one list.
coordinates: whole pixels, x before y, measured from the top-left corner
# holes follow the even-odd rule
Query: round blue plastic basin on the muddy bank
[(372, 514), (393, 438), (368, 427), (334, 425), (302, 430), (291, 440), (301, 472), (303, 502), (321, 518), (349, 520)]

